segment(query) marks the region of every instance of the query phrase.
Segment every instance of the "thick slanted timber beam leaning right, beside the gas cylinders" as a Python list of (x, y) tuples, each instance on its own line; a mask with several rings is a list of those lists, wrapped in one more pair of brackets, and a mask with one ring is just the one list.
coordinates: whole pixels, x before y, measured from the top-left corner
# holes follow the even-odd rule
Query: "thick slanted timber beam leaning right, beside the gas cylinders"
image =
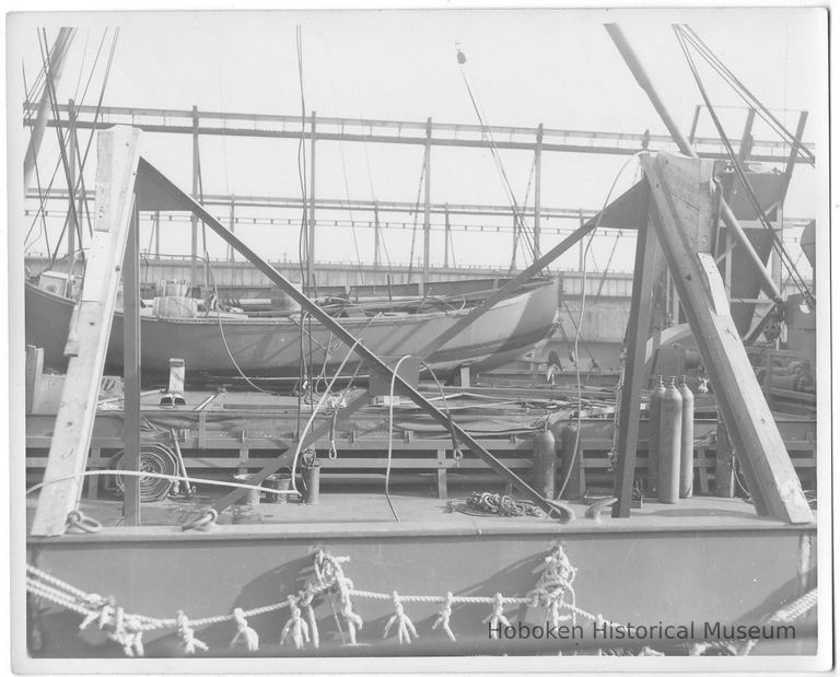
[[(756, 510), (792, 524), (813, 522), (772, 412), (761, 393), (716, 267), (703, 265), (695, 233), (712, 213), (711, 163), (669, 153), (642, 157), (655, 203), (654, 225), (682, 308), (709, 371)], [(709, 257), (711, 258), (711, 257)]]

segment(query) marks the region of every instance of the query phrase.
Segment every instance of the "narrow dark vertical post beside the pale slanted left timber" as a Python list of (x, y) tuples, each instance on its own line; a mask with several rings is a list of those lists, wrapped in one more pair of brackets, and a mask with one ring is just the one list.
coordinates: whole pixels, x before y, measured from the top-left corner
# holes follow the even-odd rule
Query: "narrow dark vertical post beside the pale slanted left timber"
[[(122, 262), (122, 440), (126, 470), (140, 470), (140, 223), (137, 200), (129, 225)], [(140, 478), (124, 478), (122, 518), (126, 526), (140, 524)]]

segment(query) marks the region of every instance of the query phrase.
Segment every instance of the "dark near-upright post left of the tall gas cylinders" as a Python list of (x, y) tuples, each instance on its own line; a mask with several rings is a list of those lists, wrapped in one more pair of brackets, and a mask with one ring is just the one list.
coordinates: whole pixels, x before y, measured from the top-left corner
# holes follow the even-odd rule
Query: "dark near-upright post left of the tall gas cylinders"
[(651, 294), (654, 282), (656, 237), (650, 229), (650, 188), (644, 182), (640, 205), (639, 234), (635, 240), (633, 290), (630, 300), (630, 318), (627, 323), (627, 358), (623, 386), (618, 405), (617, 470), (612, 505), (614, 517), (629, 517), (633, 499), (635, 453), (639, 442), (639, 409), (644, 381), (644, 351), (651, 326)]

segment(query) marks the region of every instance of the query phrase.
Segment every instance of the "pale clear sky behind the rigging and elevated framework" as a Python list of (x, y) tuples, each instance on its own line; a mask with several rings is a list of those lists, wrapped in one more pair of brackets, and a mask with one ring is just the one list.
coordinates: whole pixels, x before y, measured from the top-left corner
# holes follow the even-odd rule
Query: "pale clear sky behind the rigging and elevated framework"
[[(611, 21), (619, 22), (625, 30), (685, 132), (701, 98), (670, 27), (674, 22), (688, 23), (791, 129), (795, 127), (798, 110), (809, 110), (805, 140), (822, 140), (828, 113), (827, 40), (825, 13), (816, 9), (18, 14), (9, 20), (9, 102), (12, 112), (20, 110), (16, 106), (23, 100), (21, 65), (28, 81), (40, 67), (37, 26), (47, 27), (50, 40), (58, 26), (79, 27), (58, 91), (60, 101), (75, 95), (79, 103), (80, 83), (83, 87), (103, 31), (118, 25), (119, 40), (104, 105), (180, 109), (196, 105), (199, 109), (226, 113), (298, 115), (301, 85), (295, 31), (300, 26), (307, 115), (314, 110), (318, 116), (329, 117), (413, 121), (431, 117), (435, 121), (476, 124), (476, 113), (455, 58), (456, 45), (459, 45), (467, 57), (466, 74), (472, 92), (490, 125), (536, 128), (541, 122), (561, 129), (633, 133), (650, 129), (652, 133), (665, 133), (604, 30), (603, 24)], [(102, 69), (101, 63), (94, 71), (84, 103), (95, 103)], [(701, 74), (728, 135), (737, 139), (745, 110), (730, 106), (740, 105), (740, 100), (708, 68), (701, 69)], [(27, 132), (11, 125), (10, 129), (10, 139), (16, 139), (19, 147), (25, 144)], [(708, 115), (701, 117), (699, 133), (714, 136)], [(777, 138), (758, 121), (754, 136)], [(206, 194), (300, 196), (295, 141), (202, 137), (200, 143)], [(826, 159), (826, 151), (818, 145), (816, 154)], [(189, 188), (191, 141), (188, 137), (147, 135), (143, 154), (179, 185)], [(418, 197), (422, 159), (420, 147), (322, 142), (317, 149), (318, 197), (413, 202)], [(57, 160), (55, 139), (47, 135), (39, 164), (45, 172), (51, 172)], [(501, 160), (517, 201), (524, 202), (528, 192), (532, 203), (533, 187), (528, 190), (532, 154), (502, 151)], [(544, 154), (542, 205), (600, 208), (626, 160), (592, 154)], [(92, 165), (90, 163), (86, 171), (91, 185)], [(631, 163), (617, 180), (614, 197), (637, 176), (637, 166)], [(434, 202), (506, 203), (499, 172), (486, 149), (435, 147), (431, 194)], [(820, 195), (816, 172), (798, 165), (785, 212), (791, 217), (815, 217), (820, 211), (817, 205)], [(277, 215), (298, 217), (288, 211)], [(370, 219), (366, 213), (352, 215), (364, 221)], [(319, 217), (347, 219), (348, 214), (322, 212)], [(476, 223), (477, 219), (464, 217), (463, 221)], [(406, 220), (412, 219), (409, 215)], [(492, 219), (486, 221), (498, 223)], [(25, 231), (30, 225), (24, 220), (21, 229)], [(544, 225), (568, 229), (574, 222)], [(15, 230), (14, 224), (12, 227)], [(55, 229), (56, 224), (50, 227)], [(294, 225), (243, 226), (238, 232), (270, 258), (296, 256)], [(407, 262), (411, 232), (410, 227), (386, 231), (385, 244), (394, 262)], [(149, 245), (150, 234), (149, 226), (144, 225), (141, 246)], [(606, 264), (614, 235), (606, 233), (596, 240), (595, 268)], [(790, 236), (795, 237), (795, 233)], [(416, 257), (421, 250), (419, 231), (417, 237)], [(544, 250), (560, 237), (547, 233)], [(440, 265), (442, 233), (433, 232), (432, 238), (432, 262)], [(172, 224), (163, 242), (167, 252), (187, 253), (188, 226)], [(43, 238), (32, 250), (39, 248), (44, 249)], [(224, 255), (221, 243), (210, 243), (208, 250), (211, 256)], [(621, 238), (611, 267), (629, 270), (632, 250), (632, 237)], [(511, 256), (511, 234), (455, 232), (453, 254), (458, 262), (506, 265)], [(794, 258), (797, 255), (798, 250)], [(574, 252), (568, 253), (558, 268), (576, 267), (576, 256)], [(372, 231), (319, 230), (316, 258), (371, 261)]]

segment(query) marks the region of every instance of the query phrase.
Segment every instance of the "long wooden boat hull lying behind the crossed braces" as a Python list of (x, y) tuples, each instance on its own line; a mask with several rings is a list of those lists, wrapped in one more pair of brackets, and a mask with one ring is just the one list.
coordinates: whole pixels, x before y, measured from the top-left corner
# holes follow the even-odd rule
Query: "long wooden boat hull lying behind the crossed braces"
[[(492, 366), (518, 357), (546, 338), (552, 329), (559, 302), (559, 280), (506, 299), (467, 327), (428, 360), (435, 369), (464, 363)], [(26, 341), (44, 348), (45, 365), (67, 364), (63, 347), (73, 310), (72, 301), (36, 287), (26, 285)], [(419, 354), (429, 342), (467, 314), (468, 310), (374, 318), (341, 318), (353, 335), (382, 358)], [(301, 348), (307, 364), (326, 373), (338, 369), (348, 348), (331, 332), (305, 323), (303, 346), (296, 318), (219, 319), (141, 318), (141, 363), (143, 372), (165, 373), (170, 358), (185, 360), (187, 373), (296, 377), (301, 371)], [(232, 359), (233, 358), (233, 359)], [(235, 360), (235, 364), (234, 364)], [(351, 357), (348, 375), (358, 365)], [(122, 366), (122, 315), (114, 316), (106, 370)], [(349, 370), (349, 371), (348, 371)]]

